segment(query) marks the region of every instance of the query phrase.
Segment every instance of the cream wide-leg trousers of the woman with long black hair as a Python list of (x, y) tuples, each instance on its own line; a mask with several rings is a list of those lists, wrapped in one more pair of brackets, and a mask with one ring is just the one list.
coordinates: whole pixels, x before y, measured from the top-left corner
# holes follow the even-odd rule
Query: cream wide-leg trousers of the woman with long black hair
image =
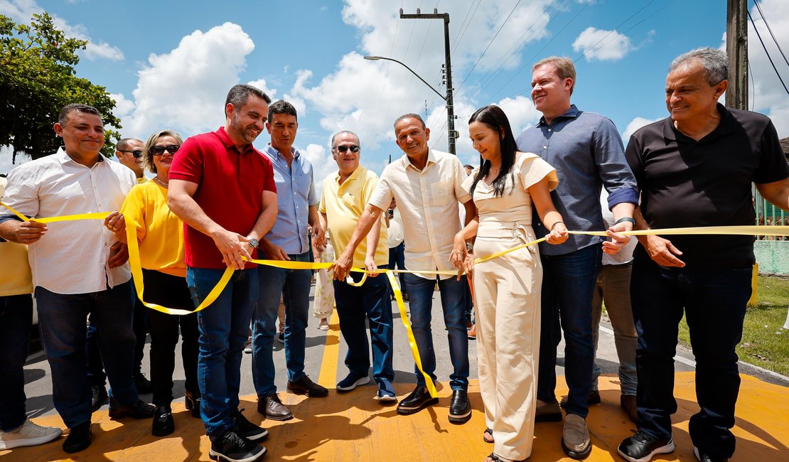
[[(512, 248), (518, 238), (477, 237), (477, 258)], [(537, 246), (474, 266), (477, 365), (493, 452), (522, 460), (532, 453), (540, 352), (542, 265)]]

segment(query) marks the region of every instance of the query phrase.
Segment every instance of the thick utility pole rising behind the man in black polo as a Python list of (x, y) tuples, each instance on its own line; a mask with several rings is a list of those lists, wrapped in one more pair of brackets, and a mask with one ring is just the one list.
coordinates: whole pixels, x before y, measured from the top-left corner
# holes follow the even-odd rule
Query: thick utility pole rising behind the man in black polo
[(748, 2), (727, 0), (726, 52), (729, 55), (729, 87), (726, 106), (748, 109)]

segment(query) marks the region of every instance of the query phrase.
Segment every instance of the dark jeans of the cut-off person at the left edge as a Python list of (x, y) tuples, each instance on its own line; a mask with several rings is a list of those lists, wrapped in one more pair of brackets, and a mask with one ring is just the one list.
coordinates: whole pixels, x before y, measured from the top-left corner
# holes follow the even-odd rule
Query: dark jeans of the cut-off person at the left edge
[(24, 362), (33, 325), (33, 297), (0, 296), (0, 430), (19, 427), (24, 409)]

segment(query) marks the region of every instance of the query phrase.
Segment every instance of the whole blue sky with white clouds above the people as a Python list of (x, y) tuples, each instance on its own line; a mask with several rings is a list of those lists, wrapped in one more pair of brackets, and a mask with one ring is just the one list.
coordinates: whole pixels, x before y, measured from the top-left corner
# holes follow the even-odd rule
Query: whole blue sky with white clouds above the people
[[(789, 50), (789, 2), (760, 5)], [(753, 2), (749, 6), (768, 39)], [(90, 40), (77, 75), (114, 95), (124, 136), (216, 129), (227, 89), (252, 83), (297, 106), (295, 145), (315, 164), (317, 179), (335, 169), (327, 143), (339, 129), (361, 136), (362, 162), (380, 172), (390, 155), (402, 155), (391, 123), (407, 112), (426, 117), (432, 146), (447, 150), (443, 100), (399, 65), (363, 59), (398, 59), (445, 91), (442, 22), (401, 20), (400, 7), (405, 13), (417, 7), (450, 13), (458, 155), (473, 164), (478, 156), (466, 130), (473, 110), (501, 105), (516, 135), (537, 121), (529, 100), (534, 61), (550, 55), (575, 59), (573, 102), (611, 117), (627, 136), (667, 115), (663, 94), (671, 59), (695, 47), (721, 47), (726, 28), (723, 0), (0, 0), (0, 13), (14, 20), (28, 22), (32, 13), (47, 11), (69, 34)], [(775, 45), (769, 50), (789, 76)], [(753, 29), (750, 59), (755, 109), (771, 115), (780, 135), (789, 136), (789, 97)], [(267, 141), (264, 132), (256, 146)], [(0, 173), (9, 162), (8, 153), (0, 152)]]

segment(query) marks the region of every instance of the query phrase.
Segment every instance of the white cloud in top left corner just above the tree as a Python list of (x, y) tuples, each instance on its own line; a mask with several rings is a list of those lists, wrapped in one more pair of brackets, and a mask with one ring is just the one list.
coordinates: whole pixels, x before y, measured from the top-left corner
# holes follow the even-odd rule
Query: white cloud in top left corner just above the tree
[[(4, 0), (0, 2), (0, 14), (10, 17), (17, 23), (28, 24), (32, 20), (33, 14), (44, 13), (45, 10), (34, 0)], [(54, 20), (55, 27), (65, 32), (67, 37), (74, 39), (88, 40), (85, 50), (77, 51), (77, 54), (88, 58), (91, 61), (97, 59), (109, 59), (110, 61), (122, 61), (123, 52), (118, 48), (103, 42), (94, 41), (88, 34), (88, 29), (82, 24), (69, 24), (62, 17), (52, 13), (50, 16)]]

